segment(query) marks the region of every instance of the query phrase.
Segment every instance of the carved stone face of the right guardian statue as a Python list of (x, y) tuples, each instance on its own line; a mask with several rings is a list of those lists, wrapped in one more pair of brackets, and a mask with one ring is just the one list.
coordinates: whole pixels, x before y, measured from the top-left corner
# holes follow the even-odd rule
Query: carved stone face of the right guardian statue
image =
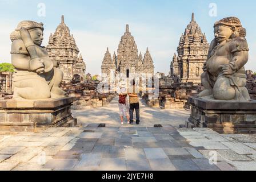
[(221, 43), (225, 40), (230, 39), (231, 35), (235, 31), (235, 27), (228, 27), (222, 24), (214, 27), (214, 35), (217, 43)]

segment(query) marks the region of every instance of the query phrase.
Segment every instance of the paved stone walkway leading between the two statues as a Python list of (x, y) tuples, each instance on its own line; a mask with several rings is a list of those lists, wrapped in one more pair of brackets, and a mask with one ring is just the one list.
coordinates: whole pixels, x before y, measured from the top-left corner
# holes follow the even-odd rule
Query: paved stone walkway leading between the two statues
[(178, 129), (186, 110), (141, 104), (141, 125), (133, 126), (119, 125), (117, 99), (73, 113), (79, 127), (0, 135), (0, 170), (256, 170), (255, 135)]

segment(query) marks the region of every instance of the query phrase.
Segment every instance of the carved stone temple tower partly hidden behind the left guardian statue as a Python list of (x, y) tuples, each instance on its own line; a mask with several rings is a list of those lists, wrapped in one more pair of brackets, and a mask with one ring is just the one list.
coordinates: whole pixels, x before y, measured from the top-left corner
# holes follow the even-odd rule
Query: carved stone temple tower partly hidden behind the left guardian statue
[(63, 15), (55, 33), (50, 35), (49, 45), (46, 49), (51, 59), (58, 61), (58, 67), (64, 73), (64, 82), (70, 82), (76, 74), (85, 78), (85, 62), (82, 55), (79, 55), (79, 49), (73, 35), (70, 35), (69, 27), (65, 24)]

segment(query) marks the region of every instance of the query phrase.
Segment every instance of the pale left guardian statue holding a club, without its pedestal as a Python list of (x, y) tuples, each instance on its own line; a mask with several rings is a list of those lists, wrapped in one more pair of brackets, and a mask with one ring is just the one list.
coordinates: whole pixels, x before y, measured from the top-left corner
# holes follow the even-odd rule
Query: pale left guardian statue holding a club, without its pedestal
[(56, 68), (42, 47), (43, 23), (22, 21), (11, 33), (11, 63), (15, 67), (13, 76), (14, 100), (45, 100), (66, 96), (59, 85), (63, 72)]

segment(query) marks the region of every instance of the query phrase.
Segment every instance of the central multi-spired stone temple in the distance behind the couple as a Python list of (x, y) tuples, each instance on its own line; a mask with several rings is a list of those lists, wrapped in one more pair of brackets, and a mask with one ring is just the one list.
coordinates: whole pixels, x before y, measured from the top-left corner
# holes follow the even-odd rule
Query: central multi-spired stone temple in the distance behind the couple
[(102, 61), (102, 75), (106, 74), (110, 78), (111, 69), (115, 73), (121, 73), (126, 77), (129, 74), (150, 73), (154, 75), (154, 62), (150, 55), (149, 48), (146, 49), (144, 58), (142, 53), (138, 54), (137, 44), (131, 35), (129, 25), (126, 25), (126, 32), (122, 36), (117, 49), (117, 55), (114, 52), (113, 57), (107, 48)]

